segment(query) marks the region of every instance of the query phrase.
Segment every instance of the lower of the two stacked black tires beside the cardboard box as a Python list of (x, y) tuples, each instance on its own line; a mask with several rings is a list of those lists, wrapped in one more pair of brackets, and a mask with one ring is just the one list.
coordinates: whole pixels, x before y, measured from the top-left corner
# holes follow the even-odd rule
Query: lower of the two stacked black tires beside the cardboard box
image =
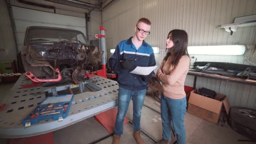
[(240, 133), (241, 135), (246, 136), (247, 138), (256, 141), (256, 137), (255, 137), (256, 131), (254, 131), (250, 128), (247, 128), (247, 127), (241, 125), (240, 123), (237, 123), (235, 120), (232, 120), (232, 118), (229, 118), (229, 125), (237, 133)]

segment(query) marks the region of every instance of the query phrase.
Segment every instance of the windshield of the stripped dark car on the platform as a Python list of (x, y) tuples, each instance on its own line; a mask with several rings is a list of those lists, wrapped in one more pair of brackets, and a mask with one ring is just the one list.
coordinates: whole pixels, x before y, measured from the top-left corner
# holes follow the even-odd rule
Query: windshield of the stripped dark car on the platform
[(56, 27), (28, 27), (24, 45), (27, 43), (55, 43), (59, 41), (89, 44), (83, 32), (78, 30)]

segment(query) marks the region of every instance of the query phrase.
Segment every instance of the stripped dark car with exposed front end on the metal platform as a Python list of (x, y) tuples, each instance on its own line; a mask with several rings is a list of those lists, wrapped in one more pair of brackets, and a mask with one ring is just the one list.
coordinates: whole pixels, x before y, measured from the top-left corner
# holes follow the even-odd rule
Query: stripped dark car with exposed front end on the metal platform
[(21, 48), (27, 77), (40, 83), (78, 84), (86, 72), (99, 69), (102, 54), (82, 32), (56, 27), (28, 27)]

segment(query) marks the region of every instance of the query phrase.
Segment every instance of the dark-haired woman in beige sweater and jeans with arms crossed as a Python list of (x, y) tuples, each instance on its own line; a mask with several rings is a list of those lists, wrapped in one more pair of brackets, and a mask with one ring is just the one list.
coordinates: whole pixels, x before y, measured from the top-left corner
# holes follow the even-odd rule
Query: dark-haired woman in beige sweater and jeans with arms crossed
[(167, 53), (160, 69), (157, 70), (157, 79), (162, 82), (161, 118), (163, 139), (159, 143), (168, 144), (171, 139), (171, 123), (173, 123), (178, 144), (185, 144), (184, 115), (187, 100), (184, 81), (190, 64), (187, 52), (188, 36), (184, 30), (173, 29), (169, 32), (167, 38)]

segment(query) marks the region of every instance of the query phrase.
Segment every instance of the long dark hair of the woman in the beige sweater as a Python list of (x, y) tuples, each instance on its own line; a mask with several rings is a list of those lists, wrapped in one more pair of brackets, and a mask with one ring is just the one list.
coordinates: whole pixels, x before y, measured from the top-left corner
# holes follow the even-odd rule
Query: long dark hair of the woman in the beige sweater
[[(181, 29), (173, 29), (169, 32), (168, 36), (170, 34), (172, 35), (171, 38), (174, 43), (174, 46), (172, 48), (174, 59), (171, 63), (175, 68), (179, 63), (181, 56), (187, 55), (189, 57), (189, 53), (187, 52), (188, 36), (187, 36), (187, 32)], [(168, 36), (167, 38), (169, 38)], [(166, 53), (164, 60), (167, 61), (169, 56), (171, 56), (171, 51)]]

